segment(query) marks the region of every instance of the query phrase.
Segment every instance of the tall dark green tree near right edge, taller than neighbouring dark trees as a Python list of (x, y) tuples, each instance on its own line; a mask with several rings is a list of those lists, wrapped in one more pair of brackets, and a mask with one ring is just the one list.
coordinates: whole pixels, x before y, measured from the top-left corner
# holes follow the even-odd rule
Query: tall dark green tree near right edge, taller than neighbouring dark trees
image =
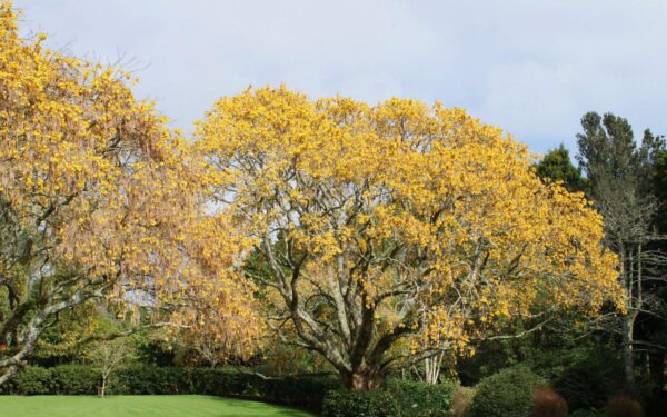
[(605, 220), (606, 245), (620, 260), (627, 314), (621, 318), (626, 383), (634, 386), (635, 326), (640, 314), (659, 315), (665, 300), (653, 289), (665, 280), (665, 254), (656, 246), (659, 201), (654, 192), (665, 141), (649, 130), (641, 145), (627, 119), (588, 112), (577, 135), (577, 159), (587, 176), (587, 193)]

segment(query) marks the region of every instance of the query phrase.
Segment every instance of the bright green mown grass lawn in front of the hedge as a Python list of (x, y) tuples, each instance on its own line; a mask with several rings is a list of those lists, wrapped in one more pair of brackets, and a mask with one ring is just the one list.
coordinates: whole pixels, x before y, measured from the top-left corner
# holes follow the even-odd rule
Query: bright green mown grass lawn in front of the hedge
[(0, 396), (0, 416), (11, 417), (222, 417), (312, 415), (287, 407), (201, 395), (156, 396)]

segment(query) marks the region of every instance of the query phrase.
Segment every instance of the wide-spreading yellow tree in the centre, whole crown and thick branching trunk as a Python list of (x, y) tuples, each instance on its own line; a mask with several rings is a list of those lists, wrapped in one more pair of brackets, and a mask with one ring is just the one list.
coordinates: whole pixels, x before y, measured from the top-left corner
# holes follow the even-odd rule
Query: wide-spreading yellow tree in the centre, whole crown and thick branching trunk
[(267, 266), (248, 274), (269, 325), (349, 386), (514, 317), (618, 301), (600, 216), (461, 109), (265, 88), (220, 99), (196, 139), (210, 207)]

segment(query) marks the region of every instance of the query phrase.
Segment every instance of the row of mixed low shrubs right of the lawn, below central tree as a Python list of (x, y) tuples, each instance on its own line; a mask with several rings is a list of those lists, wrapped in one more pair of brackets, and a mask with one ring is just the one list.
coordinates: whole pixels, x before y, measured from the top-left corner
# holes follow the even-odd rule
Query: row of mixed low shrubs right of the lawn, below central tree
[[(326, 417), (567, 417), (566, 400), (547, 381), (518, 366), (484, 378), (474, 389), (451, 383), (428, 386), (390, 381), (379, 391), (330, 391)], [(638, 401), (611, 398), (599, 409), (576, 409), (578, 417), (644, 417)]]

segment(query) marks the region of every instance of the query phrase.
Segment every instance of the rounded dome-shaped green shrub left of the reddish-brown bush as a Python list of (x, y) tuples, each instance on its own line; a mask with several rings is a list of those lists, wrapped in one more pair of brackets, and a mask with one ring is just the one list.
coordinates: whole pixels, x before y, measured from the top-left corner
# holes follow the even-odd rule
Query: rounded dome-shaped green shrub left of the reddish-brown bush
[(484, 378), (470, 407), (474, 417), (526, 417), (532, 409), (532, 393), (545, 380), (527, 367), (507, 368)]

